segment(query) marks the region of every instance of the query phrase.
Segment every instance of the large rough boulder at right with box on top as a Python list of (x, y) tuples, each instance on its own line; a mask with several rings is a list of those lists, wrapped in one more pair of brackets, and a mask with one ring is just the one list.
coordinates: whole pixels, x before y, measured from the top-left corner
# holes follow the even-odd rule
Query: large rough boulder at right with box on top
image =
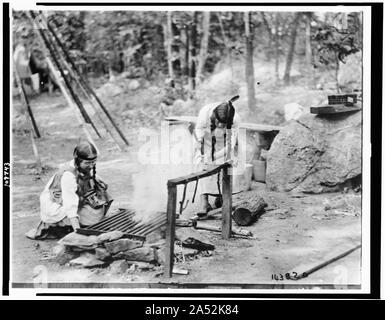
[(322, 193), (359, 177), (361, 125), (361, 112), (306, 114), (290, 121), (267, 153), (268, 188)]

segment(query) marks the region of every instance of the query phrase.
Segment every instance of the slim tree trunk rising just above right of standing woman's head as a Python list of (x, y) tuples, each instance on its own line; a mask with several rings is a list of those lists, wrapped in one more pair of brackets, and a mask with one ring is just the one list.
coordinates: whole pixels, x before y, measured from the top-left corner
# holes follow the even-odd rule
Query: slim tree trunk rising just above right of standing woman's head
[(254, 89), (254, 64), (253, 64), (253, 40), (250, 35), (250, 12), (245, 12), (245, 34), (246, 34), (246, 82), (249, 111), (255, 110)]

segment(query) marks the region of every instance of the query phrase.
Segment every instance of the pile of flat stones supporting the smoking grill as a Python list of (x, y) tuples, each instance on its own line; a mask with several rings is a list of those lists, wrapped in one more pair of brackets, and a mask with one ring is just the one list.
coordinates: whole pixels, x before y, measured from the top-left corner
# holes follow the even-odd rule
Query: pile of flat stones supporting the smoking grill
[[(199, 256), (211, 256), (214, 246), (198, 231), (178, 228), (174, 246), (174, 261), (186, 262)], [(164, 233), (151, 234), (146, 241), (129, 239), (121, 231), (95, 235), (72, 232), (54, 247), (55, 260), (60, 265), (77, 268), (104, 268), (112, 273), (149, 271), (165, 263)]]

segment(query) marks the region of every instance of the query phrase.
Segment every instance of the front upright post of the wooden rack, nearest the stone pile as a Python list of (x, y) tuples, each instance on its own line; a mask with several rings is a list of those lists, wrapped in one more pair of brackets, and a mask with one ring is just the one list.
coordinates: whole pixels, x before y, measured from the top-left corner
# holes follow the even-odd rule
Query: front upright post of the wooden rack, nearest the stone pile
[(164, 266), (164, 275), (172, 277), (172, 268), (174, 265), (174, 241), (175, 241), (175, 220), (176, 220), (176, 185), (168, 185), (167, 199), (167, 230), (166, 230), (166, 263)]

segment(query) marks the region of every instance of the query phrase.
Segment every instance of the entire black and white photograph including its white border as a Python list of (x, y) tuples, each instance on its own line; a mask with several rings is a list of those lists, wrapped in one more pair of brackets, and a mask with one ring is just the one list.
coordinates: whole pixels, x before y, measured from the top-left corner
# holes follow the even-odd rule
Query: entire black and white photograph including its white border
[(371, 15), (10, 3), (10, 292), (370, 292)]

